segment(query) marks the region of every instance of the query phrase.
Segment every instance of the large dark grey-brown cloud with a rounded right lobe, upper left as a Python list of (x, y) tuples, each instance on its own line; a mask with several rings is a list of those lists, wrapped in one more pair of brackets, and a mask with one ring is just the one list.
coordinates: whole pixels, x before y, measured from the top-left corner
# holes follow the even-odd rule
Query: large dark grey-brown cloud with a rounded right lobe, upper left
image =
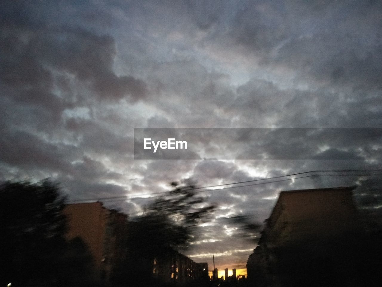
[[(89, 89), (88, 95), (99, 99), (126, 96), (134, 102), (146, 97), (144, 81), (131, 75), (116, 75), (113, 71), (116, 46), (112, 36), (99, 35), (79, 26), (73, 28), (70, 23), (52, 25), (52, 19), (44, 17), (36, 19), (43, 13), (39, 10), (37, 15), (33, 14), (37, 7), (28, 7), (32, 9), (30, 14), (18, 19), (20, 10), (28, 8), (21, 9), (18, 5), (12, 8), (2, 22), (2, 82), (24, 88), (24, 93), (20, 91), (23, 98), (31, 98), (24, 95), (31, 90), (42, 95), (52, 91), (54, 75), (58, 75), (58, 86), (70, 86), (65, 80), (72, 78), (72, 84), (77, 80), (83, 88)], [(77, 93), (74, 98), (78, 96), (81, 97)]]

